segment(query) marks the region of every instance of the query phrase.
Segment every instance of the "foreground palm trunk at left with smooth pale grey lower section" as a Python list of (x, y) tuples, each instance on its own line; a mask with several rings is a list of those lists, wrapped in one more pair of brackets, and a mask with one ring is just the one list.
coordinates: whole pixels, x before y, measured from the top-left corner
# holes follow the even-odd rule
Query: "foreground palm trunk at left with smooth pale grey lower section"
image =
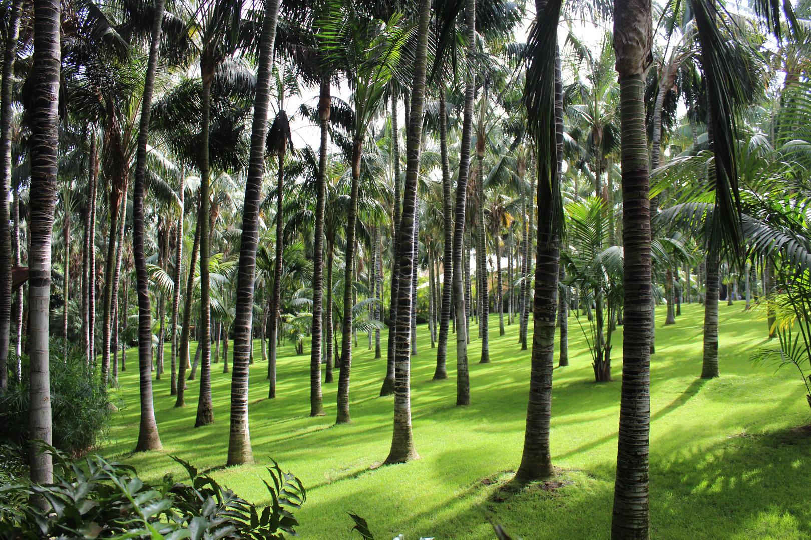
[[(31, 249), (28, 252), (28, 362), (30, 440), (51, 444), (51, 403), (48, 324), (50, 304), (51, 233), (57, 187), (58, 91), (60, 74), (59, 2), (34, 0), (34, 53), (31, 127)], [(5, 83), (5, 82), (4, 82)], [(6, 201), (2, 201), (2, 206)], [(7, 223), (7, 221), (6, 221)], [(51, 483), (52, 457), (31, 445), (32, 483)]]

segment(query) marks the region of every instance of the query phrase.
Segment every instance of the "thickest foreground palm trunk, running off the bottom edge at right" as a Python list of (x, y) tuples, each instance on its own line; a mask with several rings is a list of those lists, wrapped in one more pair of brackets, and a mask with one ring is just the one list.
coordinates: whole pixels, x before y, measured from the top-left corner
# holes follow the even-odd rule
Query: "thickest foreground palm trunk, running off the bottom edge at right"
[(650, 203), (645, 79), (653, 28), (650, 0), (616, 0), (614, 50), (620, 74), (624, 245), (624, 333), (611, 538), (649, 538)]

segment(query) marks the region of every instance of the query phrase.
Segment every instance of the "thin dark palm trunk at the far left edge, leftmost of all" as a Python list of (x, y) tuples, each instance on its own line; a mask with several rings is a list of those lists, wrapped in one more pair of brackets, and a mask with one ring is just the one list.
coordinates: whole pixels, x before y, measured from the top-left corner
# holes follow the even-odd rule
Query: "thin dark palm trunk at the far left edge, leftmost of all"
[(8, 387), (8, 344), (11, 334), (11, 231), (6, 202), (11, 185), (11, 68), (16, 57), (22, 3), (22, 0), (13, 0), (6, 15), (7, 33), (0, 75), (0, 396)]

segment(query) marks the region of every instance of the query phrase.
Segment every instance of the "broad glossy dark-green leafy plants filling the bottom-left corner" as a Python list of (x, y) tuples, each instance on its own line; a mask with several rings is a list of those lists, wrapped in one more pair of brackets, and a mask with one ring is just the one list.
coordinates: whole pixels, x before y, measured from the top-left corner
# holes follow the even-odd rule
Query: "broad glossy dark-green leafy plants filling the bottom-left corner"
[[(54, 453), (54, 483), (48, 486), (5, 484), (0, 487), (0, 539), (92, 540), (272, 540), (295, 535), (298, 526), (288, 508), (306, 500), (298, 478), (274, 461), (265, 482), (272, 503), (257, 512), (253, 504), (198, 474), (191, 485), (174, 483), (167, 474), (157, 485), (144, 483), (131, 466), (95, 456), (67, 461)], [(31, 497), (39, 504), (30, 504)]]

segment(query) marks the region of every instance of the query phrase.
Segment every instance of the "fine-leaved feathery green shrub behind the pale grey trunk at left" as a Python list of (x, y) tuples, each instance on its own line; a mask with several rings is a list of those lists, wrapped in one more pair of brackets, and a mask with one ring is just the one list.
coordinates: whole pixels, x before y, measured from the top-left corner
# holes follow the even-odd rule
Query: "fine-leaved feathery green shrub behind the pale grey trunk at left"
[[(79, 457), (103, 440), (112, 415), (109, 396), (98, 385), (79, 355), (63, 358), (64, 341), (49, 344), (52, 443), (54, 448)], [(8, 391), (0, 398), (0, 440), (24, 447), (28, 427), (28, 357), (22, 359), (22, 376), (9, 377)]]

